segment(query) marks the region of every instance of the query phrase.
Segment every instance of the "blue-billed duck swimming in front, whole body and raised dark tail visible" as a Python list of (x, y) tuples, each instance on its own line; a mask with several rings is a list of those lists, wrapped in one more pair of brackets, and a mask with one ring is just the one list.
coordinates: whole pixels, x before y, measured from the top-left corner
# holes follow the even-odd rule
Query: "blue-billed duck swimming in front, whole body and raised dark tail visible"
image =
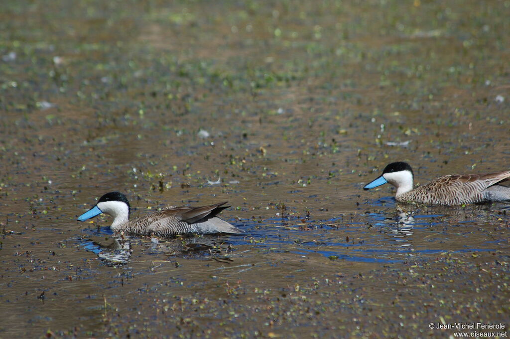
[(183, 234), (242, 234), (243, 230), (217, 217), (225, 208), (226, 201), (207, 206), (168, 206), (161, 211), (130, 220), (131, 206), (126, 196), (119, 192), (109, 192), (101, 196), (97, 203), (78, 217), (85, 221), (101, 213), (113, 217), (111, 229), (133, 236), (172, 237)]

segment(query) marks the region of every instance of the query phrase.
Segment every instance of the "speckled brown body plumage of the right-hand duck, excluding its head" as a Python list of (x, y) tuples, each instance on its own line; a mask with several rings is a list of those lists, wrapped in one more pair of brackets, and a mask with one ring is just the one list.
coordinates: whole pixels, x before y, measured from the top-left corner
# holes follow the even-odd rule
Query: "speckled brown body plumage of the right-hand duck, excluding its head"
[(489, 174), (444, 175), (412, 191), (395, 196), (401, 202), (461, 205), (510, 200), (510, 188), (497, 185), (510, 171)]

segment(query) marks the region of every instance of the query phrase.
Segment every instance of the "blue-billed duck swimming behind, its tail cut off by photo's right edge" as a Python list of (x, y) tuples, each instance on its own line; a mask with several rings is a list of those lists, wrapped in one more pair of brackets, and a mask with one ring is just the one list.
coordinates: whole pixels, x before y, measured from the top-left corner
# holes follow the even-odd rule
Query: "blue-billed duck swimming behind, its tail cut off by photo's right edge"
[(363, 189), (370, 190), (388, 182), (396, 187), (395, 199), (399, 202), (451, 206), (508, 201), (510, 188), (500, 184), (509, 178), (510, 171), (443, 175), (413, 189), (413, 169), (409, 164), (399, 161), (387, 165), (382, 174)]

